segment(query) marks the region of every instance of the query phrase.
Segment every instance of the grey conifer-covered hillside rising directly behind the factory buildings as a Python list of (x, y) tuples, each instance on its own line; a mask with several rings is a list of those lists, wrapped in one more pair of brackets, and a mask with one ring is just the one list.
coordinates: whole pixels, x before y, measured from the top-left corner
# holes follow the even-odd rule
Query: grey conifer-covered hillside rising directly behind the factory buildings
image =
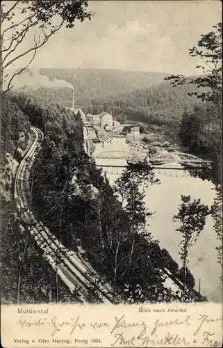
[(188, 93), (196, 89), (191, 86), (172, 88), (170, 84), (143, 88), (108, 98), (97, 98), (92, 104), (83, 105), (85, 113), (112, 110), (115, 115), (126, 114), (129, 120), (140, 120), (156, 125), (174, 125), (182, 119), (185, 109), (191, 109), (195, 97)]

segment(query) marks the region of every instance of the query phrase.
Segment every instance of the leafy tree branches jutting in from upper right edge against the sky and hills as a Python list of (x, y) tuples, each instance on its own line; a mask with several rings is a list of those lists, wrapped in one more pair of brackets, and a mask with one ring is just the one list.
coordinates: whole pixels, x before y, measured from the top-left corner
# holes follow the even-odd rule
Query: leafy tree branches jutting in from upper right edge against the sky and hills
[(201, 70), (202, 75), (185, 77), (179, 74), (165, 77), (165, 80), (172, 81), (174, 87), (192, 84), (201, 88), (201, 91), (188, 94), (215, 105), (215, 116), (222, 129), (222, 23), (217, 23), (213, 29), (214, 31), (201, 35), (197, 47), (189, 49), (190, 56), (201, 59), (201, 65), (196, 68)]

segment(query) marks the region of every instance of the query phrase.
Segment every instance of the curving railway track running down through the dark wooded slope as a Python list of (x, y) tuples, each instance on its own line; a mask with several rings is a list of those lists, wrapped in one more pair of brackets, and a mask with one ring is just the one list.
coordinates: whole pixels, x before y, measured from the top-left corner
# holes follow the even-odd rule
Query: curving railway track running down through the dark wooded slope
[(50, 232), (49, 228), (35, 218), (31, 209), (31, 195), (29, 187), (30, 169), (35, 159), (35, 154), (40, 147), (44, 134), (37, 127), (31, 127), (35, 140), (24, 155), (15, 176), (15, 203), (19, 210), (21, 220), (43, 251), (43, 258), (49, 262), (54, 271), (69, 287), (70, 292), (78, 290), (81, 301), (88, 301), (91, 295), (99, 302), (112, 302), (112, 289), (110, 285), (95, 285), (97, 272), (88, 262), (81, 260), (76, 253), (67, 250), (62, 243)]

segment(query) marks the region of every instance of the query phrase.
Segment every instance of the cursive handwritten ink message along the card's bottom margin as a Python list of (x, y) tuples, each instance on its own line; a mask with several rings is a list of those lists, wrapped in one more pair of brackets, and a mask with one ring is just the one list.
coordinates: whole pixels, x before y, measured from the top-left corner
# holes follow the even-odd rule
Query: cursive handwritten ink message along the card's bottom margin
[[(132, 320), (129, 315), (117, 315), (109, 322), (100, 320), (88, 321), (81, 315), (61, 319), (60, 315), (49, 318), (39, 317), (35, 320), (22, 319), (17, 321), (21, 330), (31, 330), (39, 326), (47, 330), (51, 337), (93, 335), (97, 332), (100, 338), (106, 337), (111, 347), (222, 347), (220, 338), (220, 322), (222, 318), (210, 317), (205, 313), (199, 315), (181, 315), (163, 319), (158, 317), (142, 316), (142, 319)], [(165, 316), (165, 318), (168, 318)], [(211, 325), (210, 325), (211, 324)]]

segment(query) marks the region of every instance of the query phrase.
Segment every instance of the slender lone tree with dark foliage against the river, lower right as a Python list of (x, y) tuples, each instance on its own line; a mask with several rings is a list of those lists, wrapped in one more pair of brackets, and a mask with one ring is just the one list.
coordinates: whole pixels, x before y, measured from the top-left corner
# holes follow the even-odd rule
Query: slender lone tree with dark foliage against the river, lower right
[(206, 216), (210, 214), (207, 205), (201, 204), (201, 200), (193, 200), (190, 196), (181, 195), (182, 203), (179, 205), (179, 212), (173, 216), (172, 220), (179, 222), (181, 226), (176, 229), (182, 234), (182, 240), (179, 243), (181, 260), (184, 269), (184, 290), (187, 284), (187, 267), (188, 267), (188, 251), (197, 241), (206, 223)]

